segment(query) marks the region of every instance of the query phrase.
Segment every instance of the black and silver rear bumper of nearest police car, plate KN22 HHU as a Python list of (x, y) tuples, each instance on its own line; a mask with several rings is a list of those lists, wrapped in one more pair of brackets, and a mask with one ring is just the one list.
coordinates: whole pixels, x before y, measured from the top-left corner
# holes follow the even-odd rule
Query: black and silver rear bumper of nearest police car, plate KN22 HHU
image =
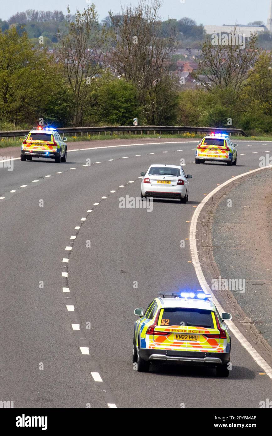
[(140, 348), (140, 356), (145, 361), (161, 361), (164, 363), (183, 363), (196, 365), (222, 365), (230, 360), (230, 353), (170, 351)]

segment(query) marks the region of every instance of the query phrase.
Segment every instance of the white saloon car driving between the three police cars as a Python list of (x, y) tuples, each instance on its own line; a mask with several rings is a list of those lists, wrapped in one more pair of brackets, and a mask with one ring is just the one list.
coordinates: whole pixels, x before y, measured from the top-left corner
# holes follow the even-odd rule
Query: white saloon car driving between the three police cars
[(187, 203), (189, 182), (193, 176), (184, 173), (182, 167), (177, 165), (154, 164), (150, 165), (143, 176), (141, 198), (177, 198), (181, 203)]

